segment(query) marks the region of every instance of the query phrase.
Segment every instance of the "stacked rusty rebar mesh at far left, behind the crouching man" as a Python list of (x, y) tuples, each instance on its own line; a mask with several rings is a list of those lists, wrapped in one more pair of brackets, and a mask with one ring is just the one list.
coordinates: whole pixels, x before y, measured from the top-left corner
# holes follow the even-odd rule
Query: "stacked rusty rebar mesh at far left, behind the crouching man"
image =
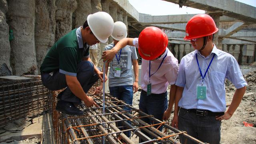
[(0, 78), (0, 128), (18, 118), (33, 117), (50, 109), (50, 91), (40, 77), (26, 80)]

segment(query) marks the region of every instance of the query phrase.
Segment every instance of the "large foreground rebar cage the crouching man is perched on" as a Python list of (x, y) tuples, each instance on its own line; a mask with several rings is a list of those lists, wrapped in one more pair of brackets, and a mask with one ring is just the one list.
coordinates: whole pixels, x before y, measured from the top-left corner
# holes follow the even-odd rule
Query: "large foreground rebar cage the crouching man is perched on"
[[(105, 114), (102, 114), (102, 94), (93, 95), (93, 89), (87, 93), (92, 96), (96, 104), (100, 107), (86, 108), (79, 106), (84, 111), (83, 115), (67, 115), (55, 110), (56, 97), (61, 91), (53, 92), (52, 100), (52, 120), (57, 144), (134, 144), (138, 142), (132, 141), (124, 133), (131, 132), (131, 135), (138, 136), (144, 143), (170, 143), (179, 144), (176, 140), (179, 134), (200, 144), (204, 143), (192, 136), (171, 127), (167, 122), (157, 120), (152, 115), (148, 115), (129, 104), (124, 103), (106, 94), (105, 96)], [(130, 111), (123, 108), (127, 106)], [(139, 116), (133, 116), (135, 112)], [(141, 118), (149, 118), (150, 124), (141, 120)], [(116, 122), (121, 122), (122, 126), (117, 126)], [(163, 126), (163, 130), (159, 128)], [(125, 127), (125, 128), (124, 128)], [(146, 135), (147, 134), (147, 135)]]

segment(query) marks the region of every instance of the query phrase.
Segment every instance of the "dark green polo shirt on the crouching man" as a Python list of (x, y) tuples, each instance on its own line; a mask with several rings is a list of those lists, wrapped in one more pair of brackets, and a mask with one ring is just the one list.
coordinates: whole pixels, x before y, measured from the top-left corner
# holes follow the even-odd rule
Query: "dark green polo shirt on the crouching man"
[(54, 72), (76, 76), (77, 64), (83, 57), (89, 57), (89, 46), (83, 45), (80, 28), (76, 28), (60, 38), (50, 48), (41, 64), (40, 71)]

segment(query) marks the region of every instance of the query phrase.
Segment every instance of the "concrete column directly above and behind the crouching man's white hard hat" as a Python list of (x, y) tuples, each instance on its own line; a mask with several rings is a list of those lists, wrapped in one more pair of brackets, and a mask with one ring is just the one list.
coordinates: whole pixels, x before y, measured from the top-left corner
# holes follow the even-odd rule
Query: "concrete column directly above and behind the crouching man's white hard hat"
[[(102, 6), (100, 3), (100, 0), (91, 0), (91, 4), (92, 4), (92, 14), (102, 11)], [(100, 45), (101, 44), (99, 43), (98, 47), (97, 47), (97, 63), (98, 63), (97, 66), (101, 66), (101, 64), (99, 63), (101, 55), (102, 55)]]

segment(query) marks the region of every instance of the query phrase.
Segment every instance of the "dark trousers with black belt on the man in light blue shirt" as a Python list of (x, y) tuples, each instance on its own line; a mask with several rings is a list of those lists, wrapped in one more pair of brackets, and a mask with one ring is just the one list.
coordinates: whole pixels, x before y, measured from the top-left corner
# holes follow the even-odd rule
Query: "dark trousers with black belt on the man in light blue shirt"
[[(179, 130), (186, 131), (190, 136), (210, 144), (220, 143), (220, 121), (215, 116), (198, 116), (180, 108), (178, 115)], [(191, 140), (180, 135), (182, 144), (194, 144)]]

